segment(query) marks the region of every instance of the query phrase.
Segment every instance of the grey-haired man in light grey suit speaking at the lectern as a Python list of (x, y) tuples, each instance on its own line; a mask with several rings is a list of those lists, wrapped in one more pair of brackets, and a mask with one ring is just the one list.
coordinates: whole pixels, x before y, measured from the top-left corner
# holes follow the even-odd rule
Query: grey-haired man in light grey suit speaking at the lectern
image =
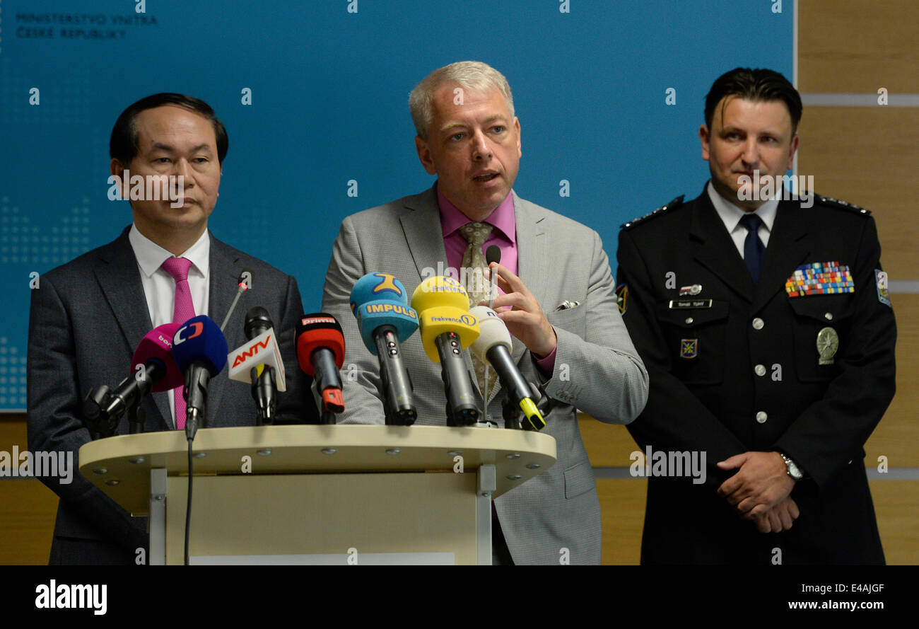
[[(384, 417), (378, 362), (350, 313), (355, 281), (386, 272), (411, 293), (426, 277), (443, 274), (438, 268), (468, 267), (461, 256), (499, 246), (502, 263), (485, 271), (503, 292), (494, 307), (514, 337), (516, 364), (550, 398), (545, 432), (557, 441), (558, 463), (495, 499), (494, 561), (598, 564), (600, 506), (575, 409), (627, 424), (648, 391), (647, 372), (618, 314), (607, 254), (593, 230), (512, 191), (520, 124), (504, 75), (485, 63), (452, 63), (416, 86), (409, 103), (418, 157), (437, 182), (347, 217), (325, 277), (323, 311), (341, 322), (345, 362), (357, 366), (357, 379), (345, 379), (343, 421), (379, 424)], [(469, 235), (482, 230), (487, 237)], [(416, 424), (443, 425), (439, 366), (425, 357), (419, 336), (403, 343)], [(501, 417), (500, 393), (496, 386), (488, 395), (490, 417)]]

